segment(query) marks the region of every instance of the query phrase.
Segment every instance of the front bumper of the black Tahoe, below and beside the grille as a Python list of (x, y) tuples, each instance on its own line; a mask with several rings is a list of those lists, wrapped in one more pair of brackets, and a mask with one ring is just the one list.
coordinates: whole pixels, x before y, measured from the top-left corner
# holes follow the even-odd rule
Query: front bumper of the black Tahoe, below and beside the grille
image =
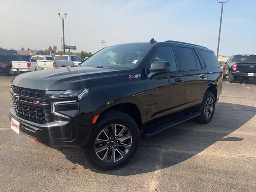
[[(13, 94), (12, 90), (11, 94)], [(9, 110), (9, 118), (14, 118), (20, 122), (20, 132), (26, 136), (36, 138), (40, 143), (50, 148), (65, 149), (75, 146), (83, 146), (88, 143), (92, 133), (92, 128), (94, 126), (94, 124), (92, 124), (92, 119), (94, 117), (93, 111), (96, 110), (96, 106), (86, 99), (76, 102), (76, 104), (78, 104), (78, 108), (80, 109), (81, 106), (86, 106), (86, 110), (81, 109), (79, 111), (74, 111), (70, 108), (67, 109), (67, 107), (64, 106), (66, 104), (60, 104), (58, 105), (58, 108), (61, 108), (62, 106), (61, 113), (68, 117), (65, 118), (63, 115), (58, 116), (58, 114), (54, 114), (54, 120), (48, 123), (34, 122), (20, 117), (16, 113), (14, 106)], [(53, 103), (51, 108), (52, 106)], [(65, 108), (65, 110), (63, 110), (63, 108)]]

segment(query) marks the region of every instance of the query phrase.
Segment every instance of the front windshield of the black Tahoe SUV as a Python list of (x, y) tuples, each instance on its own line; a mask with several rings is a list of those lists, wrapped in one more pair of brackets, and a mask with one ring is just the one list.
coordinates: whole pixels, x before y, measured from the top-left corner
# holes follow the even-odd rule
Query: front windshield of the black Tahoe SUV
[(138, 66), (151, 47), (150, 45), (106, 47), (84, 61), (81, 66), (101, 66), (116, 69), (134, 68)]

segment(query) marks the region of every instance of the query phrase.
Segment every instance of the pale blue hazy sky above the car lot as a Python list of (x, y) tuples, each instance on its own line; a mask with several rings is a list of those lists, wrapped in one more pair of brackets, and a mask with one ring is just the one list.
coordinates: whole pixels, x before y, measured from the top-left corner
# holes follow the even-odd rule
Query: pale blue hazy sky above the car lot
[[(217, 0), (46, 1), (0, 0), (0, 47), (32, 50), (65, 44), (96, 52), (128, 42), (176, 40), (217, 52), (221, 4)], [(220, 55), (256, 54), (256, 0), (224, 4)]]

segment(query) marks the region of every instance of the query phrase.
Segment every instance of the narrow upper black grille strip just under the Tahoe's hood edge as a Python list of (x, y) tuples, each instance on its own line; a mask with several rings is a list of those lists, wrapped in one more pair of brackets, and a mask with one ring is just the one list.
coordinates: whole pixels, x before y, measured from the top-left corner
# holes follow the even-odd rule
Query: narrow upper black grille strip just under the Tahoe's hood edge
[(17, 87), (14, 85), (12, 85), (11, 88), (14, 93), (24, 95), (24, 96), (45, 98), (45, 94), (46, 94), (46, 91), (44, 90), (28, 89), (23, 87)]

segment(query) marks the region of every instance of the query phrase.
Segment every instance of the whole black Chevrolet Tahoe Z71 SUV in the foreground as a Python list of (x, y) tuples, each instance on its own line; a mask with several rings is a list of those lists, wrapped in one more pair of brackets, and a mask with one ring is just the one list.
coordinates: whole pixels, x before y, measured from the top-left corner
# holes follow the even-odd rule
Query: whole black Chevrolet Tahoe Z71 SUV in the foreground
[(92, 166), (128, 162), (140, 137), (194, 118), (209, 123), (222, 92), (212, 50), (184, 42), (120, 44), (77, 67), (21, 74), (10, 87), (12, 127), (51, 148), (83, 146)]

